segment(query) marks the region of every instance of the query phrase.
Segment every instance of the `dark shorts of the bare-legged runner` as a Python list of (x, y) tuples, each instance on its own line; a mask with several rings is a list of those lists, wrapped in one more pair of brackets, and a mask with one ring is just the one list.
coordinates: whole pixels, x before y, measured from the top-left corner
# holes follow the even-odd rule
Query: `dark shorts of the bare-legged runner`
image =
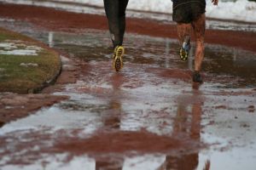
[(205, 0), (174, 0), (172, 20), (177, 23), (191, 23), (205, 12)]

